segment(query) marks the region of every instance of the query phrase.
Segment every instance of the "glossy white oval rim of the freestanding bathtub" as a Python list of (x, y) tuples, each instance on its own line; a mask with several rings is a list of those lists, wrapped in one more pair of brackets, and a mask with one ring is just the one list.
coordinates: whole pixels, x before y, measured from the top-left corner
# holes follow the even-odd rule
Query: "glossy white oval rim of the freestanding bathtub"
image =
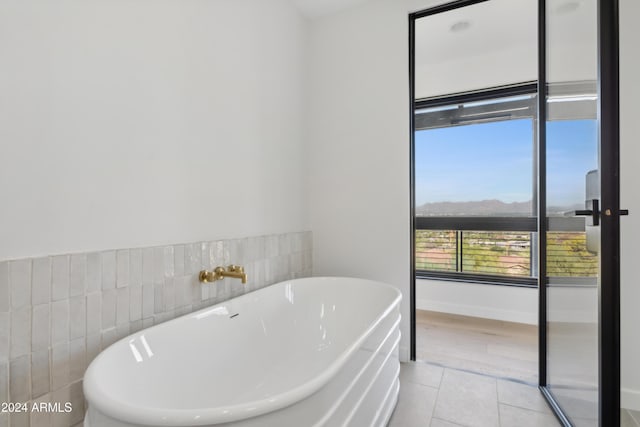
[[(90, 364), (85, 373), (83, 380), (83, 390), (87, 399), (88, 411), (93, 407), (94, 410), (102, 413), (103, 415), (113, 418), (118, 421), (123, 421), (133, 424), (142, 425), (157, 425), (157, 426), (199, 426), (210, 425), (219, 423), (228, 423), (234, 421), (240, 421), (247, 418), (263, 415), (269, 412), (273, 412), (296, 402), (299, 402), (311, 394), (318, 391), (324, 385), (326, 385), (331, 378), (346, 364), (347, 360), (355, 353), (360, 346), (366, 341), (371, 333), (380, 325), (383, 319), (390, 315), (395, 309), (397, 309), (402, 300), (402, 293), (395, 286), (387, 283), (379, 282), (376, 280), (363, 279), (357, 277), (342, 277), (342, 276), (318, 276), (284, 280), (278, 283), (269, 285), (268, 287), (258, 289), (257, 291), (267, 289), (272, 286), (285, 286), (288, 283), (300, 283), (300, 282), (312, 282), (312, 281), (339, 281), (339, 280), (355, 280), (358, 282), (368, 282), (375, 284), (383, 288), (387, 288), (394, 292), (393, 299), (388, 303), (383, 311), (381, 311), (374, 320), (363, 330), (362, 334), (354, 340), (349, 346), (347, 346), (342, 353), (336, 356), (323, 372), (309, 381), (300, 384), (299, 386), (287, 390), (283, 393), (279, 393), (274, 396), (270, 396), (264, 399), (258, 399), (241, 404), (219, 406), (216, 408), (193, 408), (193, 409), (171, 409), (171, 408), (149, 408), (131, 405), (122, 399), (113, 398), (99, 386), (100, 377), (99, 373), (96, 373), (96, 362), (100, 359), (108, 357), (105, 353), (109, 348), (115, 345), (122, 345), (122, 342), (130, 340), (132, 336), (137, 335), (145, 330), (151, 330), (153, 328), (160, 328), (169, 322), (192, 317), (202, 312), (211, 310), (217, 306), (229, 304), (231, 301), (240, 301), (242, 299), (250, 298), (254, 296), (254, 292), (247, 292), (246, 294), (239, 295), (226, 301), (222, 301), (217, 304), (210, 305), (208, 307), (196, 310), (191, 313), (184, 314), (169, 321), (160, 323), (158, 325), (151, 326), (149, 328), (138, 331), (134, 334), (130, 334), (115, 343), (111, 344), (105, 350), (103, 350)], [(92, 369), (93, 366), (93, 369)], [(104, 375), (104, 374), (102, 374)], [(197, 413), (198, 417), (194, 419), (194, 414)]]

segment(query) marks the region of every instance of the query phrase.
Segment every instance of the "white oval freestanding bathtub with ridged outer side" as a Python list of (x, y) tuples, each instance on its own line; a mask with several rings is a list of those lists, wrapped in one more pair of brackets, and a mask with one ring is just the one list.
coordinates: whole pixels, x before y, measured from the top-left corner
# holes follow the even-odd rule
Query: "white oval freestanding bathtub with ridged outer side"
[(296, 279), (145, 329), (87, 369), (84, 425), (385, 426), (400, 299), (370, 280)]

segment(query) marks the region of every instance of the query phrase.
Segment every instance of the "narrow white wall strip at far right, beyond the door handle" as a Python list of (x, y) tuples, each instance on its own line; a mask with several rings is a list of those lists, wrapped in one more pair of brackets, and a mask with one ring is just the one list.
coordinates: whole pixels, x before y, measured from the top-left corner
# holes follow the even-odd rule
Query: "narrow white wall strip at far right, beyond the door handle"
[(622, 404), (640, 410), (640, 283), (637, 266), (640, 254), (640, 58), (637, 49), (640, 28), (637, 16), (640, 16), (639, 2), (620, 2), (620, 196), (621, 207), (631, 212), (630, 216), (621, 219)]

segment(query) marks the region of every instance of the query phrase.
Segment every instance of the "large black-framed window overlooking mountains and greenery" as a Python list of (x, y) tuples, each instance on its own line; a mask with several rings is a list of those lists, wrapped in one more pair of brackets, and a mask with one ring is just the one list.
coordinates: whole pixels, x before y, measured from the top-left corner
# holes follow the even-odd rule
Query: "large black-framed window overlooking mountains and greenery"
[[(536, 97), (532, 89), (521, 86), (474, 94), (469, 100), (416, 103), (418, 276), (536, 284)], [(547, 166), (547, 177), (550, 188), (557, 189), (557, 194), (549, 194), (554, 204), (548, 206), (553, 217), (549, 218), (548, 272), (556, 277), (590, 276), (596, 272), (597, 257), (587, 250), (584, 219), (566, 214), (584, 208), (585, 183), (575, 178), (581, 176), (575, 171), (597, 167), (597, 159), (580, 154), (593, 152), (581, 147), (596, 143), (589, 137), (595, 120), (568, 114), (572, 99), (560, 101), (559, 120), (548, 130), (547, 150), (554, 151), (556, 160)]]

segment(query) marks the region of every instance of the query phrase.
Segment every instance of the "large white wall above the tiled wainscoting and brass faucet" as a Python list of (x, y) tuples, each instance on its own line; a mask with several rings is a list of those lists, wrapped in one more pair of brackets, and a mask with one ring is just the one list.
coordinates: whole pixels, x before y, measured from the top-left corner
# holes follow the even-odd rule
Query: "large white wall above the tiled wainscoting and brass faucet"
[(279, 0), (0, 5), (0, 260), (308, 229)]

